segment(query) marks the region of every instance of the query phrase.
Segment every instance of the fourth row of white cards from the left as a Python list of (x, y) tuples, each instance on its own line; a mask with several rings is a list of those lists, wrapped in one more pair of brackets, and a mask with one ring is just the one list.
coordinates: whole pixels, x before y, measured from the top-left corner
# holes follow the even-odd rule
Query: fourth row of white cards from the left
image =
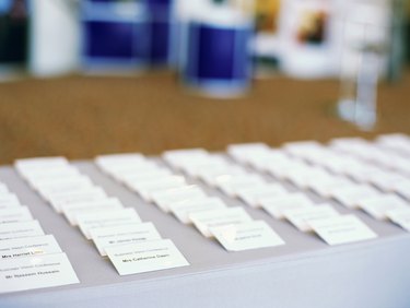
[[(231, 150), (239, 147), (248, 149), (237, 145)], [(260, 175), (248, 171), (222, 156), (197, 149), (166, 152), (163, 157), (175, 168), (204, 180), (231, 198), (242, 199), (253, 208), (261, 206), (276, 218), (286, 218), (302, 232), (314, 230), (329, 245), (376, 237), (356, 217), (342, 216), (329, 204), (316, 206), (304, 194), (289, 192), (280, 183), (268, 182)], [(349, 232), (341, 234), (340, 229)]]

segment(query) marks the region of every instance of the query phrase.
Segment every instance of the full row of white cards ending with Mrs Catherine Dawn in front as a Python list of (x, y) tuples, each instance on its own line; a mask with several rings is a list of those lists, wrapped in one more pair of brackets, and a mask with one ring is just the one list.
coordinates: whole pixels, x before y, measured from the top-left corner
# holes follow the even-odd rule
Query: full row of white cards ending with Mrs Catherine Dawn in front
[(93, 240), (99, 254), (107, 256), (120, 275), (188, 264), (152, 223), (142, 223), (134, 209), (124, 208), (118, 199), (108, 197), (66, 158), (22, 159), (15, 167), (57, 212)]

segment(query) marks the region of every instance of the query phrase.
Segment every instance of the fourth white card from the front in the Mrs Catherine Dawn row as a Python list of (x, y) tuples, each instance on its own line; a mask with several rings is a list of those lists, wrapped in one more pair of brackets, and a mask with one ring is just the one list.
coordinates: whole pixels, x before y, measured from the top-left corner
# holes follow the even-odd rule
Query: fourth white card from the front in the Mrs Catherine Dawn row
[(122, 204), (117, 198), (107, 198), (90, 202), (68, 203), (61, 206), (66, 218), (77, 226), (77, 216), (80, 214), (92, 214), (121, 209)]

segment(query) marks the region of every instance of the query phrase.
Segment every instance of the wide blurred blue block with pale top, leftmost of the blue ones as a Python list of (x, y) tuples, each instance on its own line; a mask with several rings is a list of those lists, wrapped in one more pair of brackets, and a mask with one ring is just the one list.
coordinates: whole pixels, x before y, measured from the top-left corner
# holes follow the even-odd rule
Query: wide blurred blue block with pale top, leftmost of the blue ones
[(82, 27), (86, 70), (145, 67), (150, 29), (140, 1), (87, 0), (82, 4)]

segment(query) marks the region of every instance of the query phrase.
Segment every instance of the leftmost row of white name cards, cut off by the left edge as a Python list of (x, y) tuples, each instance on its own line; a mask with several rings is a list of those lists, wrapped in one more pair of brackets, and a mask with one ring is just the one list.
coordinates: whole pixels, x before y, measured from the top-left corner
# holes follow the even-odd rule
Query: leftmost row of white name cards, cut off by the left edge
[(52, 235), (0, 182), (0, 293), (79, 283)]

